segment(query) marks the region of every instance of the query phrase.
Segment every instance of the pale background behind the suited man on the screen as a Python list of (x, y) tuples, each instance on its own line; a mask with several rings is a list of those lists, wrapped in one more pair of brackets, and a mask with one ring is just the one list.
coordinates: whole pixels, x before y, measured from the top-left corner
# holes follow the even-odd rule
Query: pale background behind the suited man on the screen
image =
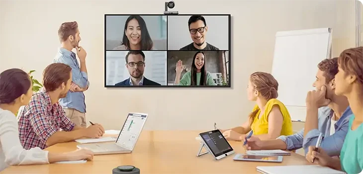
[[(130, 78), (125, 56), (128, 51), (106, 52), (106, 85), (113, 86)], [(167, 85), (167, 52), (143, 51), (145, 54), (145, 78)]]

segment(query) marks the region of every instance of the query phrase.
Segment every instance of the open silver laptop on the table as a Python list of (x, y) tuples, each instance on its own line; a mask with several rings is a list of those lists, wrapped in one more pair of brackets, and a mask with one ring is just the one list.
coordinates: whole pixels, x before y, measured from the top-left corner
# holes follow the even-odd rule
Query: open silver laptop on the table
[(147, 117), (146, 113), (129, 113), (115, 142), (80, 144), (77, 148), (91, 150), (94, 155), (131, 153)]

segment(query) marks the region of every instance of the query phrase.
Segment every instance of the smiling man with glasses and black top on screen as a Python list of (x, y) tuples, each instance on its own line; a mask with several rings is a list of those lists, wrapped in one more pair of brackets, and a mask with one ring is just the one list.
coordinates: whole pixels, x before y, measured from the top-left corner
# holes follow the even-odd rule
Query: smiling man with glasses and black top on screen
[(180, 50), (219, 50), (217, 47), (205, 41), (208, 26), (201, 15), (192, 15), (188, 21), (189, 33), (192, 43), (182, 47)]

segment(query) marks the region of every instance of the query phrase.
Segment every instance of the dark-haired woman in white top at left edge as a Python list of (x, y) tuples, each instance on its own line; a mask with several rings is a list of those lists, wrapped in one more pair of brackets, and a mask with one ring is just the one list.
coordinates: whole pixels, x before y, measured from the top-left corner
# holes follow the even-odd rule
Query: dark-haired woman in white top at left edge
[(60, 161), (92, 160), (89, 150), (69, 153), (48, 153), (40, 148), (23, 149), (19, 140), (15, 113), (32, 97), (29, 75), (20, 69), (9, 69), (0, 74), (0, 172), (9, 165), (49, 164)]

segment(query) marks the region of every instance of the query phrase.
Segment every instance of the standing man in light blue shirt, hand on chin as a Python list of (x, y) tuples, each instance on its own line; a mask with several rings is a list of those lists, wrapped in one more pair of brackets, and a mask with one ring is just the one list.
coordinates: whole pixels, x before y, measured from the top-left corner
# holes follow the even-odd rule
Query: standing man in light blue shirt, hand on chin
[[(78, 23), (76, 21), (62, 23), (58, 30), (58, 36), (61, 47), (58, 49), (53, 63), (69, 65), (73, 75), (70, 91), (66, 97), (59, 100), (59, 103), (66, 111), (68, 118), (76, 125), (86, 127), (86, 103), (83, 91), (88, 89), (90, 82), (86, 68), (87, 53), (79, 46), (81, 37)], [(76, 54), (72, 52), (73, 48), (76, 48), (81, 66), (77, 61)]]

